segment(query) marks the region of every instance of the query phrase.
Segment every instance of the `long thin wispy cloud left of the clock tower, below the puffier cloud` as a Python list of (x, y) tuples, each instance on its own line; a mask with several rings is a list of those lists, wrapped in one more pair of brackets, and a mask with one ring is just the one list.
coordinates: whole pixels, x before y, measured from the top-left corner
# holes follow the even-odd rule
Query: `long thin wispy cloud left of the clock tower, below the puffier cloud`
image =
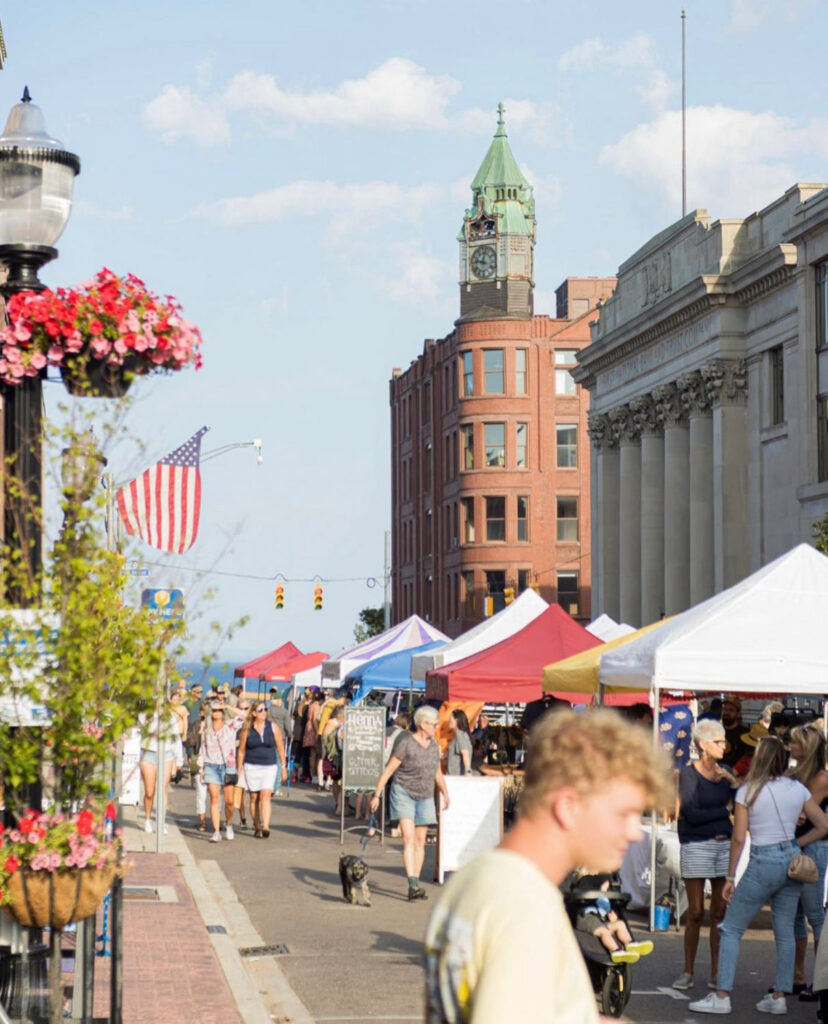
[(304, 179), (253, 196), (202, 204), (193, 210), (193, 216), (225, 226), (239, 226), (325, 215), (328, 237), (333, 239), (346, 232), (363, 233), (389, 220), (416, 222), (424, 209), (441, 195), (442, 189), (433, 184), (407, 187), (389, 181), (368, 181), (341, 185), (335, 181)]

